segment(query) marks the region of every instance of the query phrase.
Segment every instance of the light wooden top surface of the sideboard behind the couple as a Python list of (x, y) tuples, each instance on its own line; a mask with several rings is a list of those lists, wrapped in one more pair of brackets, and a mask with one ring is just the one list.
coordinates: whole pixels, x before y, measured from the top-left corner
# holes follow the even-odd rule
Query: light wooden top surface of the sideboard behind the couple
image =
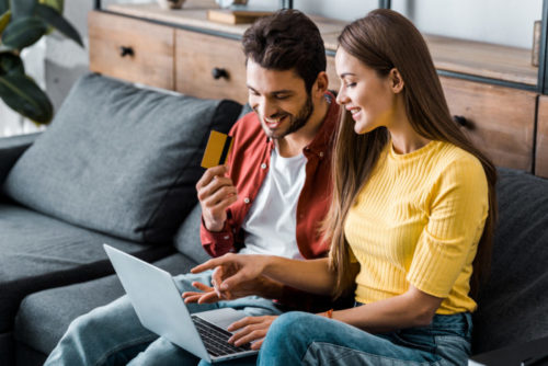
[[(180, 10), (160, 9), (156, 2), (145, 4), (111, 4), (109, 11), (168, 24), (202, 28), (241, 36), (249, 24), (222, 24), (207, 20), (208, 9), (218, 9), (214, 0), (186, 0)], [(326, 48), (336, 49), (336, 37), (346, 24), (343, 21), (310, 15), (318, 24)], [(439, 70), (468, 73), (510, 82), (537, 84), (538, 68), (530, 64), (530, 49), (424, 35)]]

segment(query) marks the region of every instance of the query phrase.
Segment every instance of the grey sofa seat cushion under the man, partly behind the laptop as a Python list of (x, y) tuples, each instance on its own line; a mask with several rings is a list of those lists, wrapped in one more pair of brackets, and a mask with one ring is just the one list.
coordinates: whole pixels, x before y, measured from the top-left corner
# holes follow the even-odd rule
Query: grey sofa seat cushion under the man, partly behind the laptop
[[(172, 275), (186, 273), (195, 264), (180, 253), (155, 262)], [(124, 294), (116, 275), (33, 294), (21, 304), (15, 321), (15, 340), (44, 353), (45, 357), (72, 320)]]

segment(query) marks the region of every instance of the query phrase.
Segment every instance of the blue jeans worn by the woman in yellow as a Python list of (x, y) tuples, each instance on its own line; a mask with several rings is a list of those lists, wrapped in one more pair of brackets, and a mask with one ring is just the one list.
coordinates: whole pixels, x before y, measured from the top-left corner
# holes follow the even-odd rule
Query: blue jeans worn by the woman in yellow
[(258, 365), (467, 365), (471, 316), (435, 316), (427, 327), (370, 334), (292, 311), (271, 325)]

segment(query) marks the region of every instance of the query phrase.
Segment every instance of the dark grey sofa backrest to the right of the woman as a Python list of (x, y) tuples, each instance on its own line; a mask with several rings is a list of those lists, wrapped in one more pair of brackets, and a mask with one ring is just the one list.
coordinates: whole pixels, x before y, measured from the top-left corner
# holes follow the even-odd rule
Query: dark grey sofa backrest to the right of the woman
[(478, 299), (473, 351), (548, 335), (548, 180), (500, 169), (491, 275)]

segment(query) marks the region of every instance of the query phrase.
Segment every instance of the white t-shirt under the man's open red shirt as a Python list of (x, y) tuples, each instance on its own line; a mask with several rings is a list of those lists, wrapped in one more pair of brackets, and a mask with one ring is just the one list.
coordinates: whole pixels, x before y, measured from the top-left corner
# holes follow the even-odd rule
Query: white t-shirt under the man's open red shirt
[(271, 167), (243, 219), (244, 254), (302, 259), (297, 245), (297, 204), (305, 185), (307, 159), (302, 152), (284, 158), (272, 149)]

